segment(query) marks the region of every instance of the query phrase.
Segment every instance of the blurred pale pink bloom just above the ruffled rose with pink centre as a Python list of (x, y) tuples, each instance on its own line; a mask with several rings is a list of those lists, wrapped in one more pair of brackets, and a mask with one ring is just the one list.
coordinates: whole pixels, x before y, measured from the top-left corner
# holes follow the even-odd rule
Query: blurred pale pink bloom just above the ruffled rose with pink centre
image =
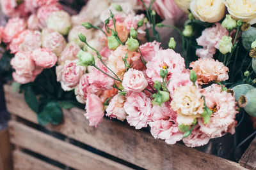
[(61, 52), (61, 55), (58, 59), (58, 64), (64, 64), (65, 60), (75, 60), (77, 59), (77, 53), (81, 50), (81, 48), (79, 47), (79, 45), (77, 45), (76, 43), (68, 43), (63, 52)]

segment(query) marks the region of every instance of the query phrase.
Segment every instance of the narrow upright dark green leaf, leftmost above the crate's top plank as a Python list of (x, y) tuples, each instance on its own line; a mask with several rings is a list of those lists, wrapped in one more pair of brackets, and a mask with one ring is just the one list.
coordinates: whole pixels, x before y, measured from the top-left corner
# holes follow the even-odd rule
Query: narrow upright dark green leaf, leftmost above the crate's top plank
[(39, 108), (38, 101), (36, 99), (35, 92), (31, 89), (31, 87), (27, 87), (25, 89), (24, 97), (29, 108), (35, 111), (35, 113), (38, 113), (38, 108)]

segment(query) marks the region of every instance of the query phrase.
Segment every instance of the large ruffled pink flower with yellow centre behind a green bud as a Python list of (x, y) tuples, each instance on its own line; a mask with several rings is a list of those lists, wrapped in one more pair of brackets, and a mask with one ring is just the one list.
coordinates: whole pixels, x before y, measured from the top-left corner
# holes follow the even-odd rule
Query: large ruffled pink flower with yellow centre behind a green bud
[(168, 70), (168, 80), (174, 73), (182, 73), (185, 71), (185, 61), (179, 53), (175, 53), (171, 49), (159, 50), (156, 52), (155, 57), (147, 63), (147, 76), (152, 81), (163, 81), (160, 76), (160, 70), (163, 68)]

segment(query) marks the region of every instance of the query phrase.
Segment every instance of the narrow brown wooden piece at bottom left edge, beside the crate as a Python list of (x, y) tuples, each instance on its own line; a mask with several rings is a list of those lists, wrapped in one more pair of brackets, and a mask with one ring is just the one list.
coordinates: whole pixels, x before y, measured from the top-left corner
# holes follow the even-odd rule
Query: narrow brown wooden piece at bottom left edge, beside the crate
[(7, 129), (0, 131), (0, 169), (12, 169), (12, 145)]

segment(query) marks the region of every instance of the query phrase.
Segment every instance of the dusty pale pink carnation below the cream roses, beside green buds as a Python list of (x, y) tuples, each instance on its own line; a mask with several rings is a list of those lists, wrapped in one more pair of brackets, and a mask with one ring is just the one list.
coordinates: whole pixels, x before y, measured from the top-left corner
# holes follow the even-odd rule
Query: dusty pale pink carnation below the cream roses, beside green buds
[(204, 48), (197, 49), (196, 55), (202, 59), (211, 59), (216, 53), (216, 48), (219, 49), (219, 43), (223, 36), (228, 36), (228, 31), (220, 23), (205, 29), (202, 35), (196, 39), (197, 44)]

